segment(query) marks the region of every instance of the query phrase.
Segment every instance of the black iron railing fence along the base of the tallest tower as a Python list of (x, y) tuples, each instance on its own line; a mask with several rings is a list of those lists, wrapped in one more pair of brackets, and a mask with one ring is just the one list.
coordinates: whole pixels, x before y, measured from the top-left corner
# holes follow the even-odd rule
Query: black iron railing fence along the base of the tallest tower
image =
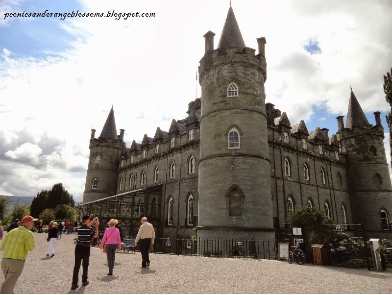
[[(140, 249), (138, 246), (130, 250)], [(254, 239), (155, 238), (150, 252), (186, 256), (275, 259), (276, 248), (273, 241)]]

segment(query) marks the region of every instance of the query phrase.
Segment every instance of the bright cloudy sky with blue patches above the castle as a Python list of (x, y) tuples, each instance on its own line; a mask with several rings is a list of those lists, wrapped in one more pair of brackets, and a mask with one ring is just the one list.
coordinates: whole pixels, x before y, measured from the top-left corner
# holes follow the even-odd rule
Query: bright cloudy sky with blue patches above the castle
[[(267, 102), (293, 125), (304, 119), (309, 131), (337, 132), (351, 85), (369, 122), (381, 111), (388, 133), (382, 85), (392, 67), (391, 1), (233, 0), (232, 7), (247, 47), (266, 37)], [(34, 196), (63, 182), (81, 200), (90, 130), (99, 135), (112, 104), (127, 147), (185, 118), (196, 89), (200, 96), (202, 36), (213, 31), (218, 45), (228, 8), (229, 0), (0, 0), (0, 195)], [(45, 10), (155, 17), (4, 19)]]

